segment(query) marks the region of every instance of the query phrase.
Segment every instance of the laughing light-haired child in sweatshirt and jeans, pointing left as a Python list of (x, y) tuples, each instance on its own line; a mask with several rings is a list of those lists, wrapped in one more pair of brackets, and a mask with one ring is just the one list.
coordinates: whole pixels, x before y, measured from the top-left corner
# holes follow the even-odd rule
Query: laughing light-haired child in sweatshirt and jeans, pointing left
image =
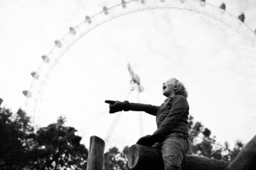
[(166, 98), (160, 106), (137, 104), (128, 101), (106, 100), (109, 113), (118, 111), (144, 111), (156, 116), (157, 130), (152, 135), (141, 137), (137, 144), (161, 149), (164, 169), (181, 169), (180, 164), (188, 151), (188, 92), (177, 79), (163, 83)]

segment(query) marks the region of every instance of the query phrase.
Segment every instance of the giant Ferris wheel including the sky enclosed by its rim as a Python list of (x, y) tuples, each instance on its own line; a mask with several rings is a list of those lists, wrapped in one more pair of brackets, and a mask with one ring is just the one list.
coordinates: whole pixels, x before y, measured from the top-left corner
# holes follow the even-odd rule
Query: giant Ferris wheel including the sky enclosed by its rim
[(133, 136), (154, 132), (154, 117), (109, 115), (104, 100), (161, 104), (161, 84), (176, 77), (188, 87), (196, 120), (220, 139), (247, 141), (256, 134), (256, 36), (244, 13), (225, 9), (196, 0), (123, 0), (84, 16), (31, 73), (26, 112), (35, 125), (63, 114), (82, 136), (132, 144)]

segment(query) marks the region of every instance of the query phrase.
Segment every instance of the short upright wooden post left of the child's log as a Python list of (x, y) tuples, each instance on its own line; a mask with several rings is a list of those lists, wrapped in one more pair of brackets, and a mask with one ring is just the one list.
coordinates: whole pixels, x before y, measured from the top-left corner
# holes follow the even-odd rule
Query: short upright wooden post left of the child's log
[(90, 137), (86, 170), (103, 170), (105, 142), (93, 135)]

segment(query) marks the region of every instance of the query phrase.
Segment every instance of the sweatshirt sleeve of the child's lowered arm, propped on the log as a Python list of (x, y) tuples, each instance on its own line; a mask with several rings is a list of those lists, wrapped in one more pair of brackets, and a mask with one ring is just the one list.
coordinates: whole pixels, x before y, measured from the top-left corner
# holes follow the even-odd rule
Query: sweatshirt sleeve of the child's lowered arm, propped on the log
[(163, 120), (159, 128), (157, 128), (156, 132), (154, 132), (154, 135), (161, 135), (161, 137), (167, 135), (187, 109), (188, 101), (185, 97), (178, 96), (174, 98), (169, 114)]

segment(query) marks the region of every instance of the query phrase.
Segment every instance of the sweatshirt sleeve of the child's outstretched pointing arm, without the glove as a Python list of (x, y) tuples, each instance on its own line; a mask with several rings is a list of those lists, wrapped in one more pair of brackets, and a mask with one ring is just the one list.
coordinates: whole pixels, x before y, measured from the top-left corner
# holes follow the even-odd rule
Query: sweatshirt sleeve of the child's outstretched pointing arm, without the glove
[(159, 106), (156, 105), (130, 103), (128, 101), (125, 101), (125, 105), (128, 105), (128, 107), (126, 107), (127, 109), (124, 111), (143, 111), (153, 116), (156, 116), (159, 109)]

